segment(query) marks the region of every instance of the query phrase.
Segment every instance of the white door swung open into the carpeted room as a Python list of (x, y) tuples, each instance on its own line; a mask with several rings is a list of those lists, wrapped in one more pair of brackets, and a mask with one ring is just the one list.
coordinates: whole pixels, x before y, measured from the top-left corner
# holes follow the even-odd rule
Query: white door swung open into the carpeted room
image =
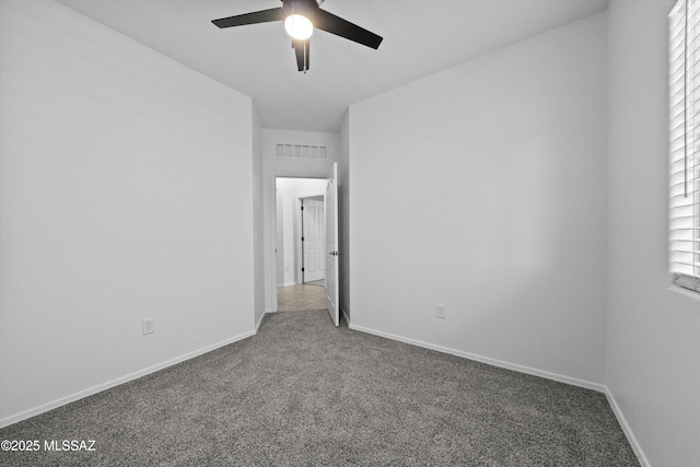
[(338, 164), (332, 164), (332, 178), (326, 185), (326, 302), (330, 319), (340, 324), (338, 304)]

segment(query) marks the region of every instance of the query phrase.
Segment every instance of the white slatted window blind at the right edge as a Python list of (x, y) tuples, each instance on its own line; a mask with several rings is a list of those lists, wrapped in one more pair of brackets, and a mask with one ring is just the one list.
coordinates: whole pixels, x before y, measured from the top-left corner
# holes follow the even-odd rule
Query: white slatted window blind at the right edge
[(700, 292), (700, 0), (678, 0), (670, 31), (670, 271)]

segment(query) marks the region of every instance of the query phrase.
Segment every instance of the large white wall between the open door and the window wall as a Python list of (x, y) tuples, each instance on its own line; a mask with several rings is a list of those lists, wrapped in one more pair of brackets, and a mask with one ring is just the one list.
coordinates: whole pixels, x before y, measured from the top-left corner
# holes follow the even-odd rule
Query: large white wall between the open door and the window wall
[(353, 327), (599, 387), (604, 14), (349, 112)]

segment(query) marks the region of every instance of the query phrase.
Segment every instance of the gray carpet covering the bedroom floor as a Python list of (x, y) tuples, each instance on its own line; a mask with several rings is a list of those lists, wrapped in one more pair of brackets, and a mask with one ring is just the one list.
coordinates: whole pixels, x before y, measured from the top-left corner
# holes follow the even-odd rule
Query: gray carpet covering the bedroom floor
[(0, 430), (95, 440), (0, 464), (638, 466), (604, 395), (335, 328), (266, 316), (257, 336)]

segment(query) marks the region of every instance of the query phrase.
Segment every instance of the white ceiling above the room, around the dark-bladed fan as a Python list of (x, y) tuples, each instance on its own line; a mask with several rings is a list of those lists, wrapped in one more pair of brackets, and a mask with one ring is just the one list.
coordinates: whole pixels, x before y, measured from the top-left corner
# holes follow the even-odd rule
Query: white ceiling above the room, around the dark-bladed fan
[(327, 0), (384, 37), (378, 50), (316, 31), (296, 71), (282, 23), (220, 30), (211, 20), (280, 0), (58, 0), (253, 98), (265, 128), (337, 132), (348, 106), (605, 10), (608, 0)]

